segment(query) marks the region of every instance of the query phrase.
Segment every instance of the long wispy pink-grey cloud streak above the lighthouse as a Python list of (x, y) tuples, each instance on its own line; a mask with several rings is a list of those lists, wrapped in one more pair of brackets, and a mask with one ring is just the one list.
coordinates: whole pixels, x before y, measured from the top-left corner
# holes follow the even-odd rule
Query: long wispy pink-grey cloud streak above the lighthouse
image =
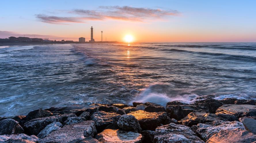
[(76, 14), (74, 17), (59, 17), (49, 15), (36, 15), (39, 21), (45, 23), (84, 23), (92, 20), (122, 20), (122, 21), (140, 21), (147, 19), (161, 19), (166, 16), (176, 16), (179, 14), (176, 10), (137, 8), (130, 6), (100, 6), (98, 10), (75, 9), (68, 13)]

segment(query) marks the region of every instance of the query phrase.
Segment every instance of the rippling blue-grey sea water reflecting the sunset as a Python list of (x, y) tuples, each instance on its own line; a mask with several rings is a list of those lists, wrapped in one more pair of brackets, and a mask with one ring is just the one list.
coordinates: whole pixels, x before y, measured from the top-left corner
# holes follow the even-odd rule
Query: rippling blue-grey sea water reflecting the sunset
[(256, 43), (0, 48), (0, 116), (91, 103), (256, 99)]

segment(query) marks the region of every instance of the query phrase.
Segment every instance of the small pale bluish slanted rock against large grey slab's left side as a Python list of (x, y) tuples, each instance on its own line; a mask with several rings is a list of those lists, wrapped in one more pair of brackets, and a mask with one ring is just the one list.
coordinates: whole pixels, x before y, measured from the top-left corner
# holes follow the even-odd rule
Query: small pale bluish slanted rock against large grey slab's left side
[(59, 130), (60, 127), (62, 127), (62, 124), (60, 122), (53, 122), (52, 124), (47, 125), (43, 130), (41, 130), (37, 137), (45, 138), (51, 132)]

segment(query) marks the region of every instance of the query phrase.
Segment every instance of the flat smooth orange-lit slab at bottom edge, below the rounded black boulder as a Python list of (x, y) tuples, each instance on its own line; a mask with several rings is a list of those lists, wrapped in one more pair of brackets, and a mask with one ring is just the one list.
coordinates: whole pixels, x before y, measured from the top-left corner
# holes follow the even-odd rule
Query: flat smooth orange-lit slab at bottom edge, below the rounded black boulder
[(122, 143), (141, 143), (142, 135), (137, 132), (125, 131), (120, 129), (106, 129), (95, 137), (99, 142), (122, 142)]

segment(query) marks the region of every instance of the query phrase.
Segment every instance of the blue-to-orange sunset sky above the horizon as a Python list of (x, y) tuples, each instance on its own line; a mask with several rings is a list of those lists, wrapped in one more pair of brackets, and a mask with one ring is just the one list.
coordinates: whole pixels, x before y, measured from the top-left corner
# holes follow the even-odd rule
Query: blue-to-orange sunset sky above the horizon
[(256, 42), (256, 1), (1, 1), (0, 38)]

